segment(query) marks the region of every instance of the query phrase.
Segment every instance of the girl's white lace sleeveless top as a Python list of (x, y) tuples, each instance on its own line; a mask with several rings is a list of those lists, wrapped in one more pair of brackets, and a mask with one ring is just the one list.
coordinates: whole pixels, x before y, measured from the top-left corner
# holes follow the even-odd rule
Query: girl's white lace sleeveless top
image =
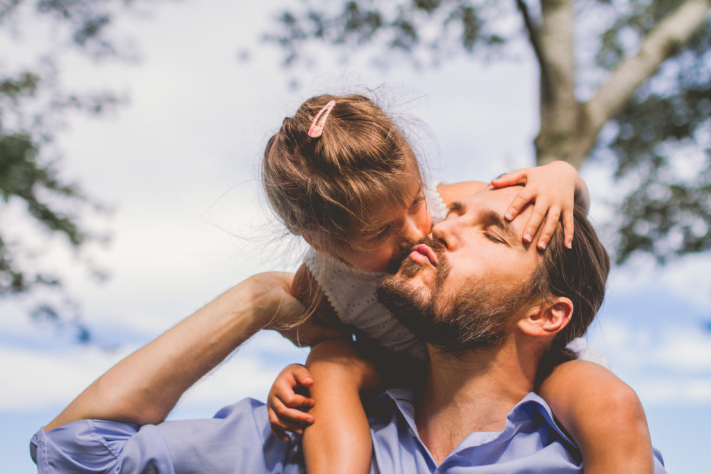
[[(432, 215), (432, 225), (447, 217), (447, 206), (437, 190), (440, 183), (442, 182), (436, 181), (424, 187), (424, 198)], [(375, 291), (383, 279), (383, 273), (355, 269), (314, 249), (306, 252), (304, 264), (324, 290), (328, 302), (343, 323), (358, 328), (386, 349), (407, 352), (419, 359), (427, 357), (424, 343), (397, 321), (385, 306), (378, 303)], [(609, 367), (604, 354), (587, 348), (582, 338), (573, 340), (568, 347), (574, 350), (580, 359)]]

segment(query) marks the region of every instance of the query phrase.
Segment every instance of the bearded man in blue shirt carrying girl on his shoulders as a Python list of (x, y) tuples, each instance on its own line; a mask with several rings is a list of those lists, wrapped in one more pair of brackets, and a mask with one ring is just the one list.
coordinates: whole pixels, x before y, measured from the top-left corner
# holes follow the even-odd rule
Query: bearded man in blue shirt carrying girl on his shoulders
[[(580, 469), (532, 390), (539, 365), (592, 321), (609, 260), (579, 214), (572, 250), (560, 231), (542, 254), (523, 244), (526, 217), (501, 217), (512, 192), (451, 206), (433, 240), (383, 283), (383, 301), (427, 342), (430, 360), (417, 399), (390, 390), (368, 412), (375, 472)], [(161, 422), (252, 333), (298, 311), (288, 289), (284, 275), (252, 277), (119, 362), (33, 437), (40, 472), (302, 472), (299, 437), (272, 436), (254, 400), (211, 420)]]

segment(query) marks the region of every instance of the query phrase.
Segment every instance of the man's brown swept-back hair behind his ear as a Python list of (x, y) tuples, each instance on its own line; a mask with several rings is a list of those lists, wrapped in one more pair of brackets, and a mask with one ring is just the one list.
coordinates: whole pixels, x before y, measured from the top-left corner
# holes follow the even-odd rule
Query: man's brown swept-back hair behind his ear
[(610, 257), (584, 210), (575, 206), (573, 212), (572, 249), (565, 247), (559, 222), (547, 249), (540, 254), (538, 269), (531, 279), (535, 294), (541, 298), (550, 301), (556, 296), (565, 296), (573, 303), (570, 322), (557, 333), (540, 362), (538, 379), (545, 377), (557, 363), (572, 358), (565, 345), (585, 333), (605, 297)]

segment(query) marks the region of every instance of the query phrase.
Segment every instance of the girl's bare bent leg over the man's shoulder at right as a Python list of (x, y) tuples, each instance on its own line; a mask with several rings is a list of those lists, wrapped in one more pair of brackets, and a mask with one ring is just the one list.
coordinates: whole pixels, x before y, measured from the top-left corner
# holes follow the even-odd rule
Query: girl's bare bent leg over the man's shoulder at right
[(579, 446), (585, 474), (653, 472), (644, 409), (634, 390), (605, 367), (564, 362), (539, 392)]

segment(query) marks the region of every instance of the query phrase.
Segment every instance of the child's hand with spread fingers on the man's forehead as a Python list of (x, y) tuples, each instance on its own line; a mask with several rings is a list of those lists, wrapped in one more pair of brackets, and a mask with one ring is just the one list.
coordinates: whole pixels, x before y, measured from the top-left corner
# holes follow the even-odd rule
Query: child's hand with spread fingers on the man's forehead
[(523, 240), (531, 242), (536, 230), (542, 225), (538, 248), (545, 249), (555, 232), (558, 220), (562, 217), (565, 247), (570, 249), (573, 242), (576, 193), (579, 193), (579, 200), (584, 205), (587, 203), (587, 188), (577, 170), (565, 161), (553, 161), (547, 165), (507, 173), (491, 181), (494, 188), (521, 183), (524, 188), (511, 201), (504, 215), (506, 220), (513, 220), (525, 205), (533, 202), (533, 212), (526, 223)]

